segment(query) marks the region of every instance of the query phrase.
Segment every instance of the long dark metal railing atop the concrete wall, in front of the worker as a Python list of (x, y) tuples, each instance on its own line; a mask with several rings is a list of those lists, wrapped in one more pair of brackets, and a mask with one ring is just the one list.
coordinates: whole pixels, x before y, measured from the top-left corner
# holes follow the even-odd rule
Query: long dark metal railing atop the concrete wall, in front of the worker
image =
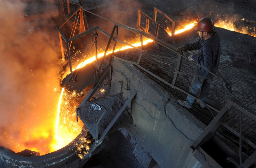
[[(149, 19), (150, 20), (150, 19)], [(178, 57), (178, 60), (177, 60), (177, 65), (176, 65), (176, 68), (172, 68), (175, 70), (175, 75), (172, 79), (172, 84), (171, 83), (168, 83), (167, 81), (165, 81), (164, 79), (158, 77), (157, 75), (155, 75), (154, 73), (148, 71), (147, 69), (143, 68), (142, 66), (140, 66), (140, 59), (142, 57), (142, 54), (145, 53), (145, 54), (148, 54), (147, 50), (143, 50), (143, 38), (147, 38), (147, 39), (151, 39), (153, 40), (155, 43), (157, 44), (160, 44), (161, 46), (164, 46), (166, 47), (167, 49), (175, 52), (176, 51), (176, 47), (162, 41), (162, 40), (159, 40), (157, 39), (156, 37), (154, 36), (151, 36), (150, 34), (148, 33), (145, 33), (141, 30), (138, 30), (138, 29), (135, 29), (135, 28), (132, 28), (132, 27), (129, 27), (129, 26), (124, 26), (124, 25), (121, 25), (119, 23), (116, 23), (114, 22), (115, 25), (113, 27), (113, 30), (112, 30), (112, 33), (109, 35), (108, 33), (104, 32), (103, 30), (101, 30), (98, 26), (95, 26), (83, 33), (80, 33), (78, 35), (76, 35), (75, 37), (73, 38), (70, 38), (69, 40), (67, 38), (65, 38), (65, 36), (61, 33), (60, 29), (57, 27), (57, 29), (59, 30), (59, 33), (61, 35), (61, 37), (65, 40), (66, 44), (67, 44), (67, 48), (69, 47), (68, 44), (69, 42), (71, 42), (72, 40), (75, 40), (79, 37), (82, 37), (84, 36), (85, 34), (87, 33), (90, 33), (90, 32), (100, 32), (102, 34), (104, 34), (105, 36), (109, 37), (109, 40), (108, 40), (108, 44), (106, 46), (106, 49), (105, 49), (105, 52), (104, 52), (104, 56), (102, 57), (101, 59), (101, 63), (100, 63), (100, 68), (98, 69), (98, 72), (97, 72), (97, 75), (95, 77), (95, 81), (93, 82), (93, 86), (92, 86), (92, 89), (91, 91), (89, 91), (89, 93), (86, 95), (86, 97), (84, 98), (84, 100), (82, 101), (82, 103), (78, 106), (78, 108), (76, 109), (76, 113), (79, 113), (79, 108), (86, 102), (86, 101), (89, 101), (93, 94), (95, 93), (95, 91), (101, 86), (102, 82), (104, 81), (104, 79), (107, 77), (107, 75), (109, 75), (109, 90), (110, 90), (110, 87), (111, 87), (111, 60), (113, 57), (115, 57), (116, 59), (119, 59), (119, 60), (122, 60), (124, 62), (128, 62), (128, 63), (131, 63), (135, 66), (137, 66), (138, 68), (142, 69), (143, 71), (147, 72), (148, 74), (150, 74), (151, 76), (155, 77), (156, 79), (162, 81), (163, 83), (171, 86), (172, 88), (174, 89), (177, 89), (177, 90), (180, 90), (182, 91), (183, 93), (187, 94), (187, 95), (190, 95), (192, 97), (194, 97), (196, 100), (199, 100), (199, 97), (196, 95), (191, 95), (190, 93), (182, 90), (181, 88), (175, 86), (176, 84), (176, 81), (179, 77), (179, 75), (183, 75), (180, 73), (180, 69), (181, 69), (181, 62), (183, 60), (183, 58), (185, 58), (187, 60), (187, 55), (188, 53), (184, 53), (184, 55), (180, 55), (179, 54), (179, 57)], [(128, 44), (122, 40), (120, 40), (118, 38), (118, 29), (119, 28), (123, 28), (127, 31), (131, 31), (133, 33), (136, 33), (140, 36), (140, 43), (141, 43), (141, 46), (140, 47), (134, 47), (132, 46), (131, 44)], [(115, 33), (116, 32), (116, 33)], [(115, 34), (115, 35), (114, 35)], [(112, 50), (112, 53), (109, 54), (108, 53), (108, 49), (109, 49), (109, 46), (110, 46), (110, 43), (111, 41), (114, 42), (114, 46), (113, 46), (113, 50)], [(124, 60), (124, 59), (121, 59), (119, 57), (116, 57), (114, 55), (114, 51), (115, 51), (115, 48), (116, 48), (116, 43), (117, 42), (120, 42), (120, 43), (123, 43), (125, 45), (128, 45), (128, 46), (131, 46), (133, 47), (134, 49), (140, 51), (140, 56), (138, 58), (138, 61), (137, 62), (131, 62), (131, 61), (127, 61), (127, 60)], [(94, 43), (95, 46), (98, 44), (97, 43)], [(103, 47), (101, 47), (103, 48)], [(70, 53), (69, 53), (69, 50), (67, 51), (68, 52), (68, 56), (70, 58)], [(103, 62), (104, 62), (104, 59), (105, 59), (105, 56), (107, 55), (107, 53), (110, 55), (110, 59), (109, 59), (109, 64), (108, 66), (102, 70), (102, 65), (103, 65)], [(97, 58), (97, 51), (95, 51), (95, 57)], [(187, 55), (186, 55), (187, 54)], [(96, 59), (97, 60), (97, 59)], [(193, 62), (195, 65), (196, 62)], [(199, 66), (199, 65), (197, 65)], [(70, 64), (70, 69), (72, 69), (72, 66)], [(215, 71), (217, 72), (217, 75), (213, 74), (215, 77), (218, 77), (220, 80), (222, 80), (225, 88), (227, 89), (228, 93), (230, 93), (231, 97), (230, 99), (227, 100), (227, 104), (219, 111), (218, 109), (214, 108), (213, 106), (210, 106), (208, 104), (206, 104), (205, 102), (203, 102), (205, 104), (205, 106), (209, 109), (209, 110), (214, 110), (216, 111), (218, 114), (215, 116), (215, 118), (212, 120), (212, 122), (208, 125), (208, 127), (204, 130), (204, 132), (198, 137), (198, 139), (194, 142), (194, 144), (191, 146), (192, 149), (196, 150), (196, 149), (200, 149), (200, 146), (202, 144), (204, 144), (204, 142), (208, 141), (213, 135), (214, 133), (217, 131), (217, 129), (221, 126), (223, 126), (224, 128), (226, 128), (227, 130), (231, 131), (232, 133), (234, 133), (235, 135), (239, 136), (240, 138), (240, 156), (241, 156), (241, 152), (242, 152), (242, 141), (250, 144), (253, 148), (256, 149), (256, 145), (253, 144), (252, 142), (250, 142), (248, 139), (246, 139), (245, 137), (242, 136), (242, 121), (240, 123), (241, 125), (241, 129), (240, 129), (240, 133), (237, 133), (235, 130), (233, 130), (232, 128), (228, 127), (225, 123), (223, 123), (222, 121), (224, 120), (224, 118), (226, 117), (227, 113), (229, 112), (229, 110), (232, 108), (232, 107), (235, 107), (237, 108), (238, 110), (241, 111), (241, 119), (242, 119), (242, 113), (246, 114), (247, 116), (251, 117), (253, 120), (256, 120), (256, 113), (253, 112), (252, 110), (250, 110), (248, 107), (244, 106), (243, 104), (241, 104), (239, 102), (239, 100), (236, 98), (236, 96), (234, 96), (231, 92), (231, 86), (230, 84), (228, 84), (228, 82), (225, 80), (225, 78), (223, 78), (223, 76), (221, 75), (221, 73), (218, 71), (218, 69), (215, 69)], [(210, 71), (208, 71), (210, 72)], [(72, 71), (71, 71), (72, 73)], [(212, 72), (210, 72), (212, 73)], [(188, 81), (188, 84), (190, 85), (189, 81)], [(132, 100), (132, 98), (136, 95), (137, 91), (135, 92), (132, 92), (131, 96), (129, 97), (129, 102), (127, 102), (128, 104), (130, 103), (130, 101)], [(126, 105), (126, 104), (125, 104)], [(125, 107), (124, 107), (125, 109)], [(120, 114), (124, 111), (123, 107), (122, 107), (122, 110), (119, 111)], [(118, 113), (119, 113), (118, 112)], [(116, 118), (118, 118), (118, 116), (120, 116), (119, 114), (116, 115)], [(100, 121), (98, 121), (100, 122)], [(114, 122), (114, 121), (113, 121)], [(110, 128), (113, 126), (113, 123), (111, 121), (111, 124), (109, 125), (109, 127), (104, 131), (104, 134), (102, 134), (100, 136), (100, 140), (102, 140), (103, 136), (106, 135), (108, 133), (108, 131), (110, 130)], [(231, 159), (232, 160), (232, 159)], [(244, 162), (242, 162), (242, 157), (240, 157), (240, 166), (241, 167), (246, 167), (246, 166), (249, 166), (249, 165), (252, 165), (253, 162), (255, 162), (256, 160), (256, 152), (254, 152), (249, 158), (247, 158)], [(235, 162), (235, 161), (234, 161)]]

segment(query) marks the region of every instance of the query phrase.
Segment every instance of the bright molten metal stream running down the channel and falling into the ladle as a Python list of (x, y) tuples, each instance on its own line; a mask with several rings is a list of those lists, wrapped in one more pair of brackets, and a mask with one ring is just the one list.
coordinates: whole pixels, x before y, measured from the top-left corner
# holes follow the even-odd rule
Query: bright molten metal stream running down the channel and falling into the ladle
[[(193, 23), (185, 26), (183, 29), (177, 30), (175, 32), (175, 34), (182, 33), (186, 30), (189, 30), (189, 29), (193, 28), (195, 25), (196, 25), (196, 22), (194, 21)], [(223, 25), (220, 25), (220, 22), (216, 23), (216, 26), (218, 26), (218, 27), (229, 29), (227, 27), (227, 25), (229, 25), (229, 24), (224, 23)], [(167, 29), (167, 31), (168, 31), (168, 29)], [(234, 31), (234, 30), (232, 29), (232, 31)], [(144, 41), (143, 45), (146, 45), (149, 42), (152, 42), (152, 40)], [(133, 46), (139, 47), (140, 42), (133, 44)], [(115, 52), (122, 51), (122, 50), (125, 50), (128, 48), (132, 48), (132, 47), (124, 46), (120, 49), (116, 49)], [(110, 52), (112, 53), (112, 51), (110, 51)], [(104, 53), (98, 54), (98, 58), (102, 57), (103, 55), (104, 55)], [(91, 63), (95, 60), (96, 60), (96, 58), (94, 55), (92, 58), (87, 59), (84, 62), (80, 63), (75, 69), (82, 68), (86, 64)], [(73, 69), (73, 70), (75, 70), (75, 69)], [(49, 143), (49, 148), (45, 149), (44, 151), (38, 151), (39, 149), (36, 146), (37, 144), (34, 144), (35, 147), (30, 146), (29, 147), (30, 150), (35, 150), (35, 151), (41, 152), (41, 155), (49, 153), (49, 151), (53, 152), (55, 150), (61, 149), (62, 147), (66, 146), (69, 142), (71, 142), (81, 132), (82, 127), (83, 127), (83, 122), (82, 121), (80, 121), (78, 123), (75, 122), (75, 117), (76, 117), (75, 109), (77, 106), (77, 102), (75, 102), (75, 100), (73, 100), (73, 99), (76, 94), (68, 94), (66, 92), (67, 91), (64, 92), (64, 88), (62, 88), (61, 93), (60, 93), (58, 108), (57, 108), (57, 118), (54, 123), (49, 123), (47, 125), (49, 127), (51, 124), (53, 124), (53, 125), (55, 124), (55, 128), (53, 128), (54, 136), (51, 136), (51, 133), (50, 132), (48, 133), (47, 131), (44, 131), (45, 134), (43, 134), (42, 131), (41, 132), (38, 131), (39, 129), (44, 130), (43, 128), (33, 128), (33, 130), (37, 130), (37, 131), (35, 131), (36, 132), (35, 134), (40, 134), (41, 137), (49, 138), (49, 141), (51, 141)], [(42, 144), (42, 145), (46, 145), (46, 144)], [(17, 148), (17, 149), (15, 149), (16, 152), (24, 150), (24, 149), (22, 149), (22, 146), (19, 146), (19, 144), (14, 145), (14, 146), (16, 146), (16, 148)]]

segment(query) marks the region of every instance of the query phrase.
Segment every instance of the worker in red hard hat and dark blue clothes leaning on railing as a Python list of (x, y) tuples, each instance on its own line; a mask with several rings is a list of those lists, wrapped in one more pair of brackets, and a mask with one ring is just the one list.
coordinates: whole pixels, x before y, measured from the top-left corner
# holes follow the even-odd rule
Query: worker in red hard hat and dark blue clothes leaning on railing
[[(188, 56), (188, 61), (195, 61), (201, 66), (199, 67), (196, 65), (195, 76), (191, 82), (192, 87), (189, 87), (189, 91), (192, 94), (198, 95), (201, 89), (200, 99), (204, 102), (207, 101), (213, 78), (213, 75), (208, 71), (215, 73), (212, 68), (216, 67), (218, 69), (220, 62), (220, 36), (214, 29), (215, 27), (212, 18), (201, 18), (196, 26), (200, 39), (193, 43), (185, 43), (176, 50), (177, 53), (183, 54), (184, 51), (199, 49), (199, 54), (191, 54)], [(185, 101), (180, 99), (178, 102), (181, 106), (190, 109), (195, 102), (195, 99), (188, 95)], [(196, 100), (196, 103), (202, 108), (205, 108), (203, 102), (200, 100)]]

